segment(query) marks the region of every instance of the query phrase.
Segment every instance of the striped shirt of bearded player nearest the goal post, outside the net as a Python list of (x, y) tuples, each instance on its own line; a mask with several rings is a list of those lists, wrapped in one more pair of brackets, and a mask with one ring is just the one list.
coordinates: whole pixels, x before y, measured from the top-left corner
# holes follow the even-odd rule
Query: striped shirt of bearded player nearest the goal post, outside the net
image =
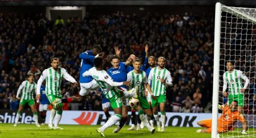
[[(161, 83), (160, 79), (166, 80), (166, 83)], [(159, 70), (158, 67), (152, 68), (148, 76), (148, 82), (152, 83), (151, 89), (155, 96), (166, 94), (166, 85), (172, 86), (170, 71), (166, 68), (161, 70)]]

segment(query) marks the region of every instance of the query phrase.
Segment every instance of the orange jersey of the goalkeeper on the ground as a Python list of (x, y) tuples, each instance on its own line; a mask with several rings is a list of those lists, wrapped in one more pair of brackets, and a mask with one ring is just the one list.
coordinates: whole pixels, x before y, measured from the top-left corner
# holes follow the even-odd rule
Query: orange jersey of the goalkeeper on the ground
[(225, 132), (233, 129), (236, 121), (245, 122), (245, 118), (239, 111), (231, 112), (228, 106), (222, 106), (222, 115), (218, 119), (218, 131)]

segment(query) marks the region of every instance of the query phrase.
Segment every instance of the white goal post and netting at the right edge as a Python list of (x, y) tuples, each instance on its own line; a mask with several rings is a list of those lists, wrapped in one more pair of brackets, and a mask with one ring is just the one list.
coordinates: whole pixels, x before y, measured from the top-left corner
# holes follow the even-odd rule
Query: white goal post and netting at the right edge
[[(236, 121), (233, 125), (223, 126), (230, 131), (219, 133), (219, 137), (256, 137), (256, 9), (227, 7), (217, 3), (215, 16), (213, 128), (220, 131), (220, 128), (217, 127), (220, 122), (214, 124), (217, 119), (214, 116), (218, 112), (216, 104), (230, 106), (230, 102), (235, 100), (239, 103), (242, 116), (248, 122), (248, 130), (242, 134), (243, 123)], [(232, 64), (234, 64), (233, 70), (229, 66)], [(241, 89), (246, 86), (244, 76), (248, 78), (248, 87), (245, 92), (241, 92)], [(225, 82), (228, 96), (223, 94)], [(218, 99), (216, 100), (216, 98)], [(224, 113), (222, 110), (219, 110), (218, 118), (220, 115), (226, 121), (237, 119), (236, 117), (230, 118), (230, 114)], [(212, 133), (216, 134), (216, 131), (213, 129)], [(215, 134), (211, 136), (215, 137)]]

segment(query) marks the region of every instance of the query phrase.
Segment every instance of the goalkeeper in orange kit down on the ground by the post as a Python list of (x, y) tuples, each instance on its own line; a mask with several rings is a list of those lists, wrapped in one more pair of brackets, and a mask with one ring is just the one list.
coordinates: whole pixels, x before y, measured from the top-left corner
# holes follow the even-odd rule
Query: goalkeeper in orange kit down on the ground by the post
[[(237, 110), (237, 101), (232, 101), (228, 105), (219, 105), (219, 109), (222, 110), (222, 115), (218, 119), (217, 131), (218, 133), (226, 133), (228, 131), (234, 130), (234, 123), (238, 120), (243, 123), (242, 134), (247, 134), (246, 130), (248, 129), (248, 123), (243, 117), (242, 113)], [(211, 133), (211, 119), (205, 119), (198, 121), (198, 125), (201, 127), (206, 127), (204, 130), (196, 130), (196, 133)]]

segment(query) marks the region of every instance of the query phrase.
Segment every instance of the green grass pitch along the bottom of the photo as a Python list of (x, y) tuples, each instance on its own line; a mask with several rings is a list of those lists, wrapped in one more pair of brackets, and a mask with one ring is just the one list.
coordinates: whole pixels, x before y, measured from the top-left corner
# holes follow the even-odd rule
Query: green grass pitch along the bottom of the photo
[[(64, 130), (48, 130), (48, 125), (37, 128), (36, 125), (33, 124), (19, 124), (18, 127), (13, 127), (13, 124), (0, 124), (0, 137), (101, 137), (96, 133), (96, 128), (100, 127), (100, 125), (60, 125), (60, 127), (64, 128)], [(196, 130), (199, 128), (192, 127), (166, 127), (164, 133), (155, 132), (155, 134), (151, 134), (146, 128), (139, 131), (128, 131), (128, 126), (125, 126), (119, 133), (112, 133), (115, 127), (116, 126), (112, 126), (105, 130), (105, 137), (211, 137), (211, 134), (196, 133)], [(251, 134), (253, 134), (253, 132)], [(237, 135), (237, 131), (233, 131), (233, 133), (220, 134), (220, 137), (222, 136), (241, 136), (241, 134)]]

